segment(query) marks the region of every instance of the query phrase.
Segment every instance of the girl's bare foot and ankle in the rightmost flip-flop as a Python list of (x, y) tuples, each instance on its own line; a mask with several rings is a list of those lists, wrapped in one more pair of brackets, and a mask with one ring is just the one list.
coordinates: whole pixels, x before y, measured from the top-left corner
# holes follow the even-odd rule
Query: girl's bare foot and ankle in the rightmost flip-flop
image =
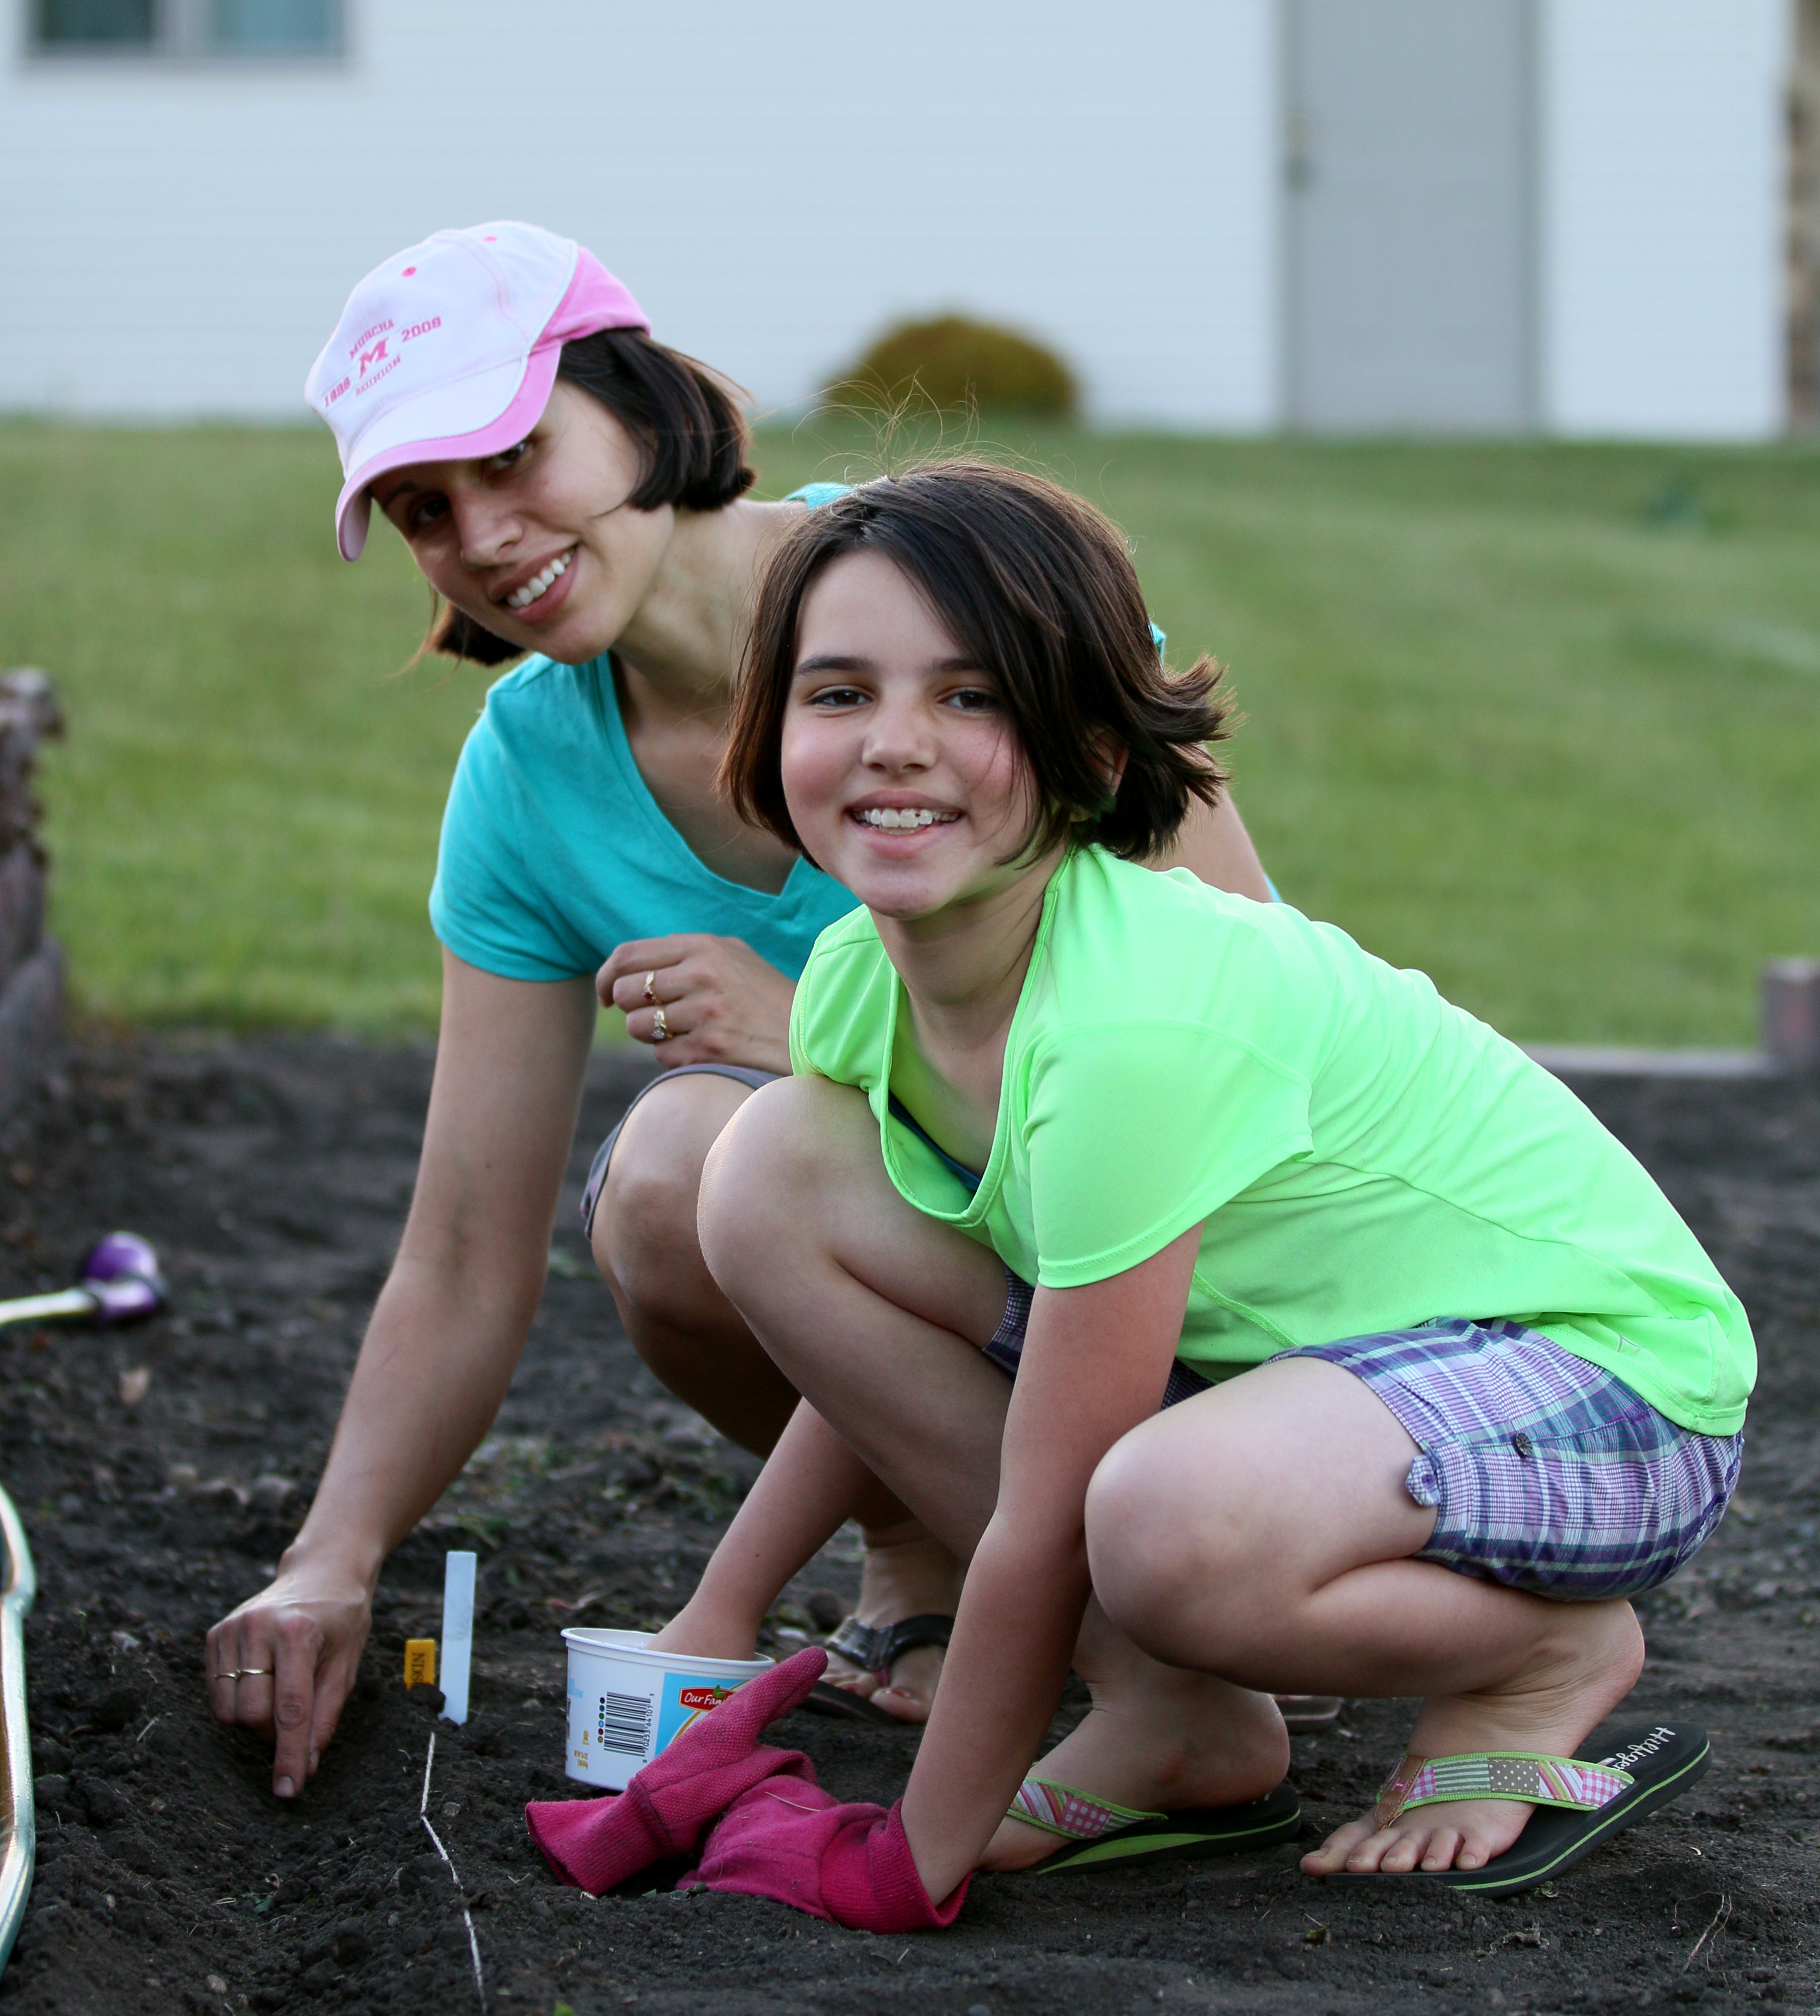
[[(1560, 1603), (1558, 1629), (1530, 1669), (1496, 1691), (1423, 1702), (1409, 1754), (1439, 1758), (1479, 1750), (1572, 1756), (1624, 1699), (1643, 1671), (1643, 1629), (1629, 1603)], [(1514, 1798), (1417, 1806), (1379, 1826), (1350, 1820), (1312, 1853), (1302, 1873), (1401, 1875), (1409, 1869), (1481, 1869), (1504, 1855), (1536, 1808)]]

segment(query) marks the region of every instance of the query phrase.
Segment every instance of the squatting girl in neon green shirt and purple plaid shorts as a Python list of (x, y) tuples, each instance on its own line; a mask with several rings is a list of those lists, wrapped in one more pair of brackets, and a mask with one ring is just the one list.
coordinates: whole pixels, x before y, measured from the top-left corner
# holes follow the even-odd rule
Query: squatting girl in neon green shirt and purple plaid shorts
[[(1117, 532), (1034, 478), (863, 486), (764, 587), (726, 776), (865, 907), (703, 1181), (804, 1405), (659, 1645), (750, 1653), (885, 1478), (971, 1562), (893, 1818), (929, 1901), (1268, 1814), (1266, 1689), (1423, 1697), (1314, 1875), (1540, 1881), (1538, 1804), (1564, 1867), (1703, 1758), (1572, 1752), (1641, 1669), (1627, 1597), (1735, 1484), (1743, 1310), (1423, 976), (1133, 865), (1217, 796), (1223, 730)], [(1096, 1712), (1026, 1780), (1070, 1661)]]

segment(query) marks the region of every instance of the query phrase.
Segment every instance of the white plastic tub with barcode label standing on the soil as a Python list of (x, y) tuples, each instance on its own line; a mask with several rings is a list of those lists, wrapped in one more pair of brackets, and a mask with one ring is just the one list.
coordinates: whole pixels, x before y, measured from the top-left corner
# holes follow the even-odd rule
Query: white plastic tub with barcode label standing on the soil
[(647, 1651), (649, 1631), (570, 1627), (564, 1776), (623, 1792), (641, 1764), (774, 1659), (691, 1659)]

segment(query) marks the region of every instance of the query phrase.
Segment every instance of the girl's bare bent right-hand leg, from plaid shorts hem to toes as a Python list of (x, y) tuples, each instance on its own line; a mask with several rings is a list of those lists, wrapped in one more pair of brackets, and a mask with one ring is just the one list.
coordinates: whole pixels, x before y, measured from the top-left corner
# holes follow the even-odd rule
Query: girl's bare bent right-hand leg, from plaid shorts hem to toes
[[(1421, 1756), (1572, 1754), (1637, 1683), (1631, 1605), (1550, 1603), (1411, 1560), (1435, 1522), (1403, 1488), (1413, 1458), (1397, 1419), (1340, 1367), (1258, 1367), (1107, 1456), (1088, 1492), (1098, 1599), (1153, 1657), (1240, 1685), (1421, 1695), (1409, 1744)], [(1094, 1790), (1143, 1804), (1104, 1772)], [(1362, 1818), (1302, 1867), (1475, 1869), (1530, 1810), (1421, 1806), (1383, 1831)]]

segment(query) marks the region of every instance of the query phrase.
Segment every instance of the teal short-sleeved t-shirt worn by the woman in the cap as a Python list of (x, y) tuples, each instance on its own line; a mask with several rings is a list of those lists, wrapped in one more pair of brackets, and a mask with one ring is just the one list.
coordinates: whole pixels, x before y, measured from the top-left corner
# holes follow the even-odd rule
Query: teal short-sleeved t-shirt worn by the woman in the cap
[[(818, 506), (842, 484), (794, 498)], [(486, 696), (443, 812), (429, 921), (506, 980), (593, 974), (629, 937), (740, 937), (794, 980), (853, 897), (798, 861), (778, 895), (726, 881), (663, 816), (633, 762), (609, 655), (530, 657)]]

